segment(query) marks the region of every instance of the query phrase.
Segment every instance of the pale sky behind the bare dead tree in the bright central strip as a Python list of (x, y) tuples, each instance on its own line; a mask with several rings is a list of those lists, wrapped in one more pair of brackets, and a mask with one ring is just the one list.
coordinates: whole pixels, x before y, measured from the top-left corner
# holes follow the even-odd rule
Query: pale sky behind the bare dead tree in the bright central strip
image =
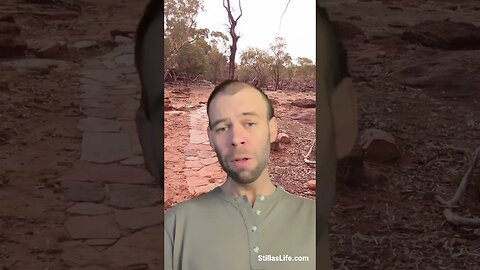
[[(238, 0), (230, 0), (238, 10)], [(315, 62), (315, 1), (290, 0), (281, 19), (288, 0), (241, 0), (243, 15), (238, 20), (236, 33), (240, 35), (237, 43), (237, 59), (248, 47), (269, 49), (275, 37), (285, 38), (287, 52), (293, 60), (307, 57)], [(223, 0), (204, 0), (205, 11), (197, 16), (197, 27), (228, 34), (227, 11)], [(233, 13), (234, 18), (238, 11)], [(280, 25), (281, 22), (281, 25)]]

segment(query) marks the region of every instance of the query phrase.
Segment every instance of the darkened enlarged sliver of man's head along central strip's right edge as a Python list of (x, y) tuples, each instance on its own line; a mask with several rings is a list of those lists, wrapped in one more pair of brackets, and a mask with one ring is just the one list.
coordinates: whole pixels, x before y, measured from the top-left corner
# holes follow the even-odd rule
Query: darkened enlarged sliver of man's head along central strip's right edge
[[(344, 1), (331, 1), (338, 4)], [(317, 0), (317, 269), (332, 269), (328, 215), (333, 206), (337, 159), (357, 139), (357, 98), (348, 74), (347, 55), (328, 18), (326, 2)]]

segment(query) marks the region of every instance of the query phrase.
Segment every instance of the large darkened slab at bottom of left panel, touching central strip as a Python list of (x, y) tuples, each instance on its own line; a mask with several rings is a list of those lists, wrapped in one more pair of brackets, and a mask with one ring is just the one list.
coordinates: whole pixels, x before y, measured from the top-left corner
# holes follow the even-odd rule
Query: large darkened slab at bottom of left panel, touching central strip
[(115, 269), (135, 264), (148, 265), (145, 269), (163, 269), (163, 226), (124, 237), (103, 254), (117, 267)]

